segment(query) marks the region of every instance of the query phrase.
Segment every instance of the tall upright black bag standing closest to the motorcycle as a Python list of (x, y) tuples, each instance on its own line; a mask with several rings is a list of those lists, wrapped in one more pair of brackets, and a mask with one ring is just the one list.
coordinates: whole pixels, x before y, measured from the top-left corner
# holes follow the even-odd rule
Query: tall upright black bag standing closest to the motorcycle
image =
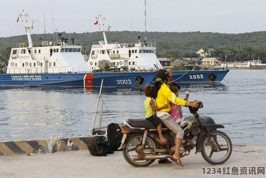
[(111, 123), (107, 127), (107, 148), (117, 150), (121, 145), (122, 140), (121, 128), (116, 123)]

